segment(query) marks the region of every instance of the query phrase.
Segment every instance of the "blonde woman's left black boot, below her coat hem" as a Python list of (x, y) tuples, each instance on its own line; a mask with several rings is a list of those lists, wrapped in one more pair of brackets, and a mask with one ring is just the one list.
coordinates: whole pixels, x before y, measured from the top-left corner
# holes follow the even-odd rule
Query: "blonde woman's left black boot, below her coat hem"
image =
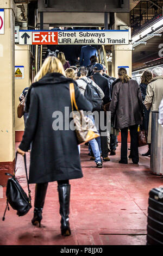
[(32, 219), (32, 224), (36, 225), (39, 223), (39, 227), (41, 227), (42, 220), (42, 209), (45, 202), (46, 191), (47, 191), (48, 183), (39, 183), (36, 184), (35, 187), (35, 203), (34, 203), (34, 217)]

